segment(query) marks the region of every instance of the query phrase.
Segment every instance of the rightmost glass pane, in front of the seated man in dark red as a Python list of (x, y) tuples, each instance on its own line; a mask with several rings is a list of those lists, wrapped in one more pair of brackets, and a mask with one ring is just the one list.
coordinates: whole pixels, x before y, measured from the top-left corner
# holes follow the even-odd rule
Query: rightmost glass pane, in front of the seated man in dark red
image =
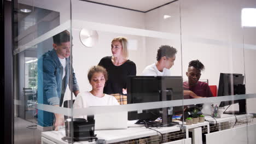
[[(247, 125), (252, 124), (255, 109), (250, 106), (253, 99), (246, 100), (246, 96), (254, 93), (251, 82), (247, 83), (255, 80), (250, 75), (254, 65), (247, 57), (254, 55), (248, 55), (253, 51), (248, 45), (254, 44), (249, 43), (248, 35), (252, 33), (247, 29), (253, 32), (255, 28), (242, 26), (242, 10), (248, 5), (255, 7), (255, 2), (180, 2), (184, 99), (199, 98), (194, 103), (202, 107), (205, 118), (214, 118), (214, 122), (208, 119), (210, 134), (205, 135), (206, 143), (237, 143), (238, 139), (238, 143), (253, 142), (254, 132)], [(220, 121), (224, 117), (230, 121)], [(237, 136), (241, 131), (247, 133)], [(225, 138), (216, 140), (218, 134)]]

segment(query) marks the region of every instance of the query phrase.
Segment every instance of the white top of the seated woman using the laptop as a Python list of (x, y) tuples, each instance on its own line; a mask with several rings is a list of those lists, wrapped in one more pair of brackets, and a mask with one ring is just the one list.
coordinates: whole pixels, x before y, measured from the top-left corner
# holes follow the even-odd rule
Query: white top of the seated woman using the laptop
[[(114, 96), (104, 94), (104, 97), (96, 97), (92, 95), (89, 91), (79, 93), (77, 98), (75, 98), (73, 108), (85, 108), (89, 106), (106, 106), (106, 105), (119, 105), (117, 99)], [(79, 116), (79, 118), (87, 118), (87, 116)]]

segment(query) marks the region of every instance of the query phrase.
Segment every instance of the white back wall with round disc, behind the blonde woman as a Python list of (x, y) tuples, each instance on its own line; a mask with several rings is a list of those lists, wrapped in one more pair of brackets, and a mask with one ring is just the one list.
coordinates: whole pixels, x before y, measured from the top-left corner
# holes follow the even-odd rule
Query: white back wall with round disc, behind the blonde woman
[[(96, 10), (97, 9), (97, 10)], [(108, 7), (83, 1), (73, 1), (72, 20), (105, 23), (115, 26), (125, 26), (144, 29), (144, 13), (136, 11)], [(84, 27), (86, 28), (86, 27)], [(98, 43), (94, 47), (84, 46), (79, 38), (80, 28), (73, 27), (73, 67), (79, 83), (80, 91), (89, 91), (91, 86), (87, 79), (88, 70), (92, 65), (97, 65), (100, 59), (111, 56), (110, 45), (114, 37), (124, 36), (137, 40), (137, 50), (129, 51), (129, 59), (136, 63), (137, 74), (141, 73), (145, 66), (145, 40), (136, 35), (125, 35), (112, 32), (98, 32)], [(97, 29), (96, 29), (97, 30)]]

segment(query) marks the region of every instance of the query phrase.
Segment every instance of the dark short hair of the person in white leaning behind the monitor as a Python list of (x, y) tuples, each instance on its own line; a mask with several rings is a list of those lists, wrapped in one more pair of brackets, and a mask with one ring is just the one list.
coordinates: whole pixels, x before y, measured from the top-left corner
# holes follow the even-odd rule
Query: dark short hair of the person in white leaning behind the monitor
[(177, 50), (168, 45), (161, 45), (158, 49), (158, 54), (156, 55), (156, 60), (159, 61), (161, 57), (173, 57), (177, 53)]

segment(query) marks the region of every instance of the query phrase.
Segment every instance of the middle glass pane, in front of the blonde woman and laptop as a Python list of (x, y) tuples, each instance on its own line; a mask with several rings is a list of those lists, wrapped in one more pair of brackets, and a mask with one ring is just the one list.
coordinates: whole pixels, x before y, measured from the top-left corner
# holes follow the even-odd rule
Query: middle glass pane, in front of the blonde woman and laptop
[[(162, 133), (164, 128), (159, 130), (160, 133), (146, 129), (147, 134), (141, 135), (145, 127), (158, 130), (156, 127), (160, 125), (175, 125), (177, 128), (183, 124), (180, 121), (183, 115), (183, 80), (179, 2), (125, 3), (72, 3), (73, 67), (81, 92), (74, 101), (74, 117), (87, 115), (89, 118), (93, 115), (98, 135), (101, 133), (97, 129), (107, 129), (106, 125), (108, 129), (127, 127), (129, 131), (125, 136), (120, 134), (123, 137), (120, 143), (139, 142), (139, 139), (149, 143), (183, 139), (184, 131), (181, 129), (171, 129), (168, 133)], [(125, 57), (125, 51), (120, 54), (118, 50), (120, 47), (126, 49), (126, 40), (128, 57)], [(96, 65), (106, 69), (108, 80), (105, 72)], [(106, 81), (96, 85), (98, 73)], [(97, 89), (103, 91), (96, 95)], [(114, 100), (108, 98), (109, 101), (103, 103), (103, 93), (105, 98)], [(177, 100), (176, 103), (173, 100)], [(124, 125), (127, 119), (128, 124)], [(99, 128), (98, 123), (105, 127)], [(138, 133), (131, 129), (138, 130)], [(171, 136), (174, 133), (177, 137)], [(137, 138), (127, 141), (129, 136)]]

